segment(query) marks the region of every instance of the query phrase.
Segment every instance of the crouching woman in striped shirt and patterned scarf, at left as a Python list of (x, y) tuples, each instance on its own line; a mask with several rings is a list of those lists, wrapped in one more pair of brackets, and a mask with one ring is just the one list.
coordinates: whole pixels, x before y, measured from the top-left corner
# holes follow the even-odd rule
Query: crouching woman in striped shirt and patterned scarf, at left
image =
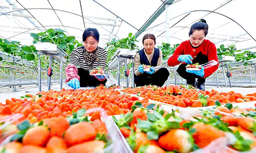
[(99, 47), (99, 32), (95, 28), (88, 28), (82, 35), (83, 45), (74, 49), (70, 54), (66, 67), (66, 83), (73, 89), (80, 87), (96, 87), (105, 85), (106, 80), (100, 75), (90, 75), (89, 70), (106, 66), (106, 50)]

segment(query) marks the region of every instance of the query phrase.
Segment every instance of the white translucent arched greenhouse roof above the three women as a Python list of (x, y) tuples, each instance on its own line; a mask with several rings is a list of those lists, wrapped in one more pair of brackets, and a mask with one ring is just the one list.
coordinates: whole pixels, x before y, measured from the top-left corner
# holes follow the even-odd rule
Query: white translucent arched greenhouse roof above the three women
[[(165, 9), (166, 3), (171, 3)], [(112, 38), (132, 33), (140, 41), (146, 33), (157, 37), (157, 45), (177, 44), (188, 39), (191, 24), (204, 18), (209, 25), (206, 39), (219, 47), (235, 44), (255, 51), (255, 0), (0, 0), (0, 38), (32, 44), (30, 33), (60, 28), (82, 41), (85, 28), (96, 28), (100, 46)], [(167, 14), (167, 17), (166, 17)], [(166, 24), (167, 18), (167, 24)]]

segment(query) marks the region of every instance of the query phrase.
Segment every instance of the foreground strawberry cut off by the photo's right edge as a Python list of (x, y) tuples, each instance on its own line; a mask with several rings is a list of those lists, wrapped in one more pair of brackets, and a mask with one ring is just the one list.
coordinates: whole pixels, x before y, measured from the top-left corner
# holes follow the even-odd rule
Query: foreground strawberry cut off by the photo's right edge
[(251, 117), (238, 117), (238, 125), (243, 129), (256, 132), (256, 120)]

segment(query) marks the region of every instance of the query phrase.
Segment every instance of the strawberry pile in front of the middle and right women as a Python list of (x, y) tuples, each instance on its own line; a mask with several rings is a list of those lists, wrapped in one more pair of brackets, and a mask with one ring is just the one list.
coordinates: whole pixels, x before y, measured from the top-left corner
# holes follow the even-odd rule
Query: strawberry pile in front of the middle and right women
[(147, 97), (148, 99), (183, 108), (214, 106), (216, 101), (220, 101), (223, 105), (227, 103), (234, 104), (256, 101), (256, 92), (242, 95), (233, 91), (198, 91), (186, 86), (173, 85), (167, 87), (146, 86), (140, 88), (126, 88), (121, 91), (138, 94), (141, 97)]

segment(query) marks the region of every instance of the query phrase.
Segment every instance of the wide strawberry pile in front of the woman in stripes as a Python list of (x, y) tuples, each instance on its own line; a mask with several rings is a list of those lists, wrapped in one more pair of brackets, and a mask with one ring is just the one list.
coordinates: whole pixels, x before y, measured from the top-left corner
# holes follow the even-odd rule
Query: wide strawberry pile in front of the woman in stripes
[[(61, 116), (70, 116), (79, 109), (101, 107), (108, 115), (120, 115), (131, 112), (136, 101), (148, 105), (148, 98), (139, 100), (131, 95), (120, 95), (119, 91), (98, 87), (94, 90), (65, 90), (39, 92), (24, 98), (11, 98), (6, 104), (0, 103), (0, 115), (24, 114), (30, 122)], [(27, 98), (26, 98), (27, 97)]]

